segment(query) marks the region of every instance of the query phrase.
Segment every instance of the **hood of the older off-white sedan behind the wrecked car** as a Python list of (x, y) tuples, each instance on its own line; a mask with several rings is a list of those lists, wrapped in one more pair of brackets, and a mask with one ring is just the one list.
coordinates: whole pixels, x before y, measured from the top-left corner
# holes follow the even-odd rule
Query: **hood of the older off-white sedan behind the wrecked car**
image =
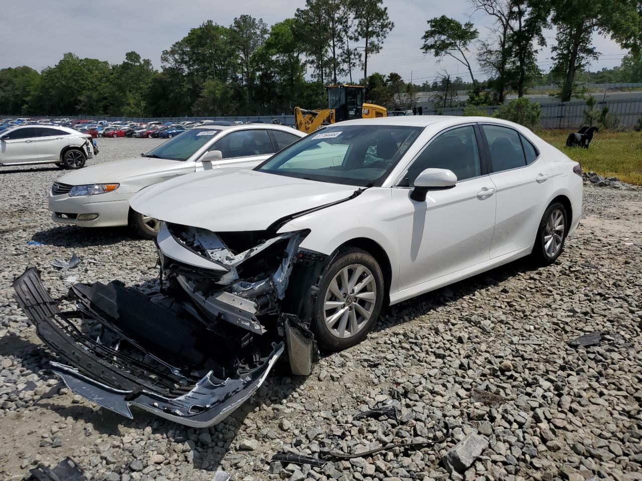
[(123, 160), (112, 160), (98, 165), (91, 165), (58, 178), (57, 180), (69, 185), (88, 183), (126, 183), (140, 176), (153, 176), (177, 164), (185, 164), (178, 160), (166, 158), (132, 157)]

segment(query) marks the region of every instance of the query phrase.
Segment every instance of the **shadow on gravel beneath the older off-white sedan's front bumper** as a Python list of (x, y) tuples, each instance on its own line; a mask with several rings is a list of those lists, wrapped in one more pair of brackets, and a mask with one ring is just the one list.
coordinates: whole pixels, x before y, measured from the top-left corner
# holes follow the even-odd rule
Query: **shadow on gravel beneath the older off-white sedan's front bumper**
[(58, 226), (37, 232), (33, 241), (56, 247), (96, 247), (117, 244), (123, 241), (144, 241), (127, 227), (78, 227)]

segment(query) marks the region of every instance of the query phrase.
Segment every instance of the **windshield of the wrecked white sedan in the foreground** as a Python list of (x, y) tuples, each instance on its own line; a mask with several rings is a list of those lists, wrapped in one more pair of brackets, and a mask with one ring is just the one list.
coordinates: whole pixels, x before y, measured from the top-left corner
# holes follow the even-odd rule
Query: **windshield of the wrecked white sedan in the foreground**
[(336, 125), (311, 133), (255, 170), (322, 182), (379, 186), (422, 127)]

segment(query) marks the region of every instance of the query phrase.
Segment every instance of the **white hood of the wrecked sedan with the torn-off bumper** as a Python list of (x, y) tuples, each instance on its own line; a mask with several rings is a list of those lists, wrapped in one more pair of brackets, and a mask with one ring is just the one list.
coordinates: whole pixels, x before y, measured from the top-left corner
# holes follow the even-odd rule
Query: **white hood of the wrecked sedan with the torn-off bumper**
[(188, 174), (144, 189), (132, 208), (212, 232), (265, 230), (277, 219), (349, 197), (358, 187), (247, 169)]

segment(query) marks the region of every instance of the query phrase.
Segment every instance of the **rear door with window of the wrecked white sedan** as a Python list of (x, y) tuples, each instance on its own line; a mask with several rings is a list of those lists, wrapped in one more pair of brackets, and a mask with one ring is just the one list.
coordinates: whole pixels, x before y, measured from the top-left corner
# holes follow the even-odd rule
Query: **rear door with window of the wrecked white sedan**
[(535, 146), (517, 130), (498, 124), (481, 124), (481, 130), (497, 197), (490, 244), (490, 258), (496, 258), (525, 249), (534, 241), (551, 192), (551, 171)]

